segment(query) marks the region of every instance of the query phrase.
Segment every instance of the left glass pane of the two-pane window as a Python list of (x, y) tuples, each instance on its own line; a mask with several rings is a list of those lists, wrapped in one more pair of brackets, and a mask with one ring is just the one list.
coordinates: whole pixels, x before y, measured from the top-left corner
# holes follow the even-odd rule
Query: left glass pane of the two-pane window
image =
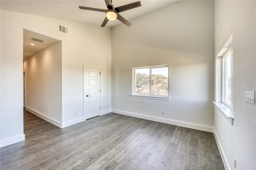
[(135, 94), (150, 95), (150, 69), (135, 69)]

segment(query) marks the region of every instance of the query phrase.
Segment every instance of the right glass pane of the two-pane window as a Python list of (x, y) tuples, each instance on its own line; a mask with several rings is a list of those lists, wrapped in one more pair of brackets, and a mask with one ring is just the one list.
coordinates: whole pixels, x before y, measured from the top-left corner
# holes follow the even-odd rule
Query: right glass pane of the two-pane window
[(168, 67), (151, 69), (151, 94), (168, 96)]

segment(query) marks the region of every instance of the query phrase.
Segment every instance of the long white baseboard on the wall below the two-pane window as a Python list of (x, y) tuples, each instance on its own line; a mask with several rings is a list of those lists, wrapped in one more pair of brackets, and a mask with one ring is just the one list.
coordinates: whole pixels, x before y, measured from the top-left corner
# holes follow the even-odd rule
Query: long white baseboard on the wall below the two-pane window
[(192, 124), (192, 123), (174, 121), (174, 120), (163, 119), (163, 118), (159, 118), (159, 117), (152, 117), (152, 116), (142, 115), (142, 114), (138, 114), (138, 113), (119, 111), (119, 110), (115, 110), (115, 109), (112, 109), (112, 112), (118, 113), (120, 115), (137, 117), (137, 118), (141, 118), (141, 119), (146, 119), (146, 120), (156, 121), (156, 122), (161, 122), (161, 123), (167, 123), (170, 125), (176, 125), (176, 126), (180, 126), (180, 127), (192, 128), (192, 129), (202, 130), (202, 131), (206, 131), (206, 132), (213, 132), (213, 127), (208, 127), (208, 126), (204, 126), (204, 125), (196, 125), (196, 124)]

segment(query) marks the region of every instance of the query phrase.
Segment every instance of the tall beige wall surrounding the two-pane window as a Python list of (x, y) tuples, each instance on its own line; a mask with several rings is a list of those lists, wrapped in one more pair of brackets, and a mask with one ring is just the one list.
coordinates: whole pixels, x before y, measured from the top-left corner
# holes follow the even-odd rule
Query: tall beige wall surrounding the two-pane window
[[(112, 28), (112, 112), (212, 131), (213, 1), (179, 1), (131, 23)], [(132, 68), (164, 64), (170, 101), (131, 98)]]

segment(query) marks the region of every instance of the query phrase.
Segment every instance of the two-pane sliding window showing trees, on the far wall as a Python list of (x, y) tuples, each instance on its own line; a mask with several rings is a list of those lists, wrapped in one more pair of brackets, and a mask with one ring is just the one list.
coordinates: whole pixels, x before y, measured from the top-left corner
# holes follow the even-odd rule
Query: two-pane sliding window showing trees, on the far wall
[(169, 96), (168, 65), (133, 68), (133, 95)]

